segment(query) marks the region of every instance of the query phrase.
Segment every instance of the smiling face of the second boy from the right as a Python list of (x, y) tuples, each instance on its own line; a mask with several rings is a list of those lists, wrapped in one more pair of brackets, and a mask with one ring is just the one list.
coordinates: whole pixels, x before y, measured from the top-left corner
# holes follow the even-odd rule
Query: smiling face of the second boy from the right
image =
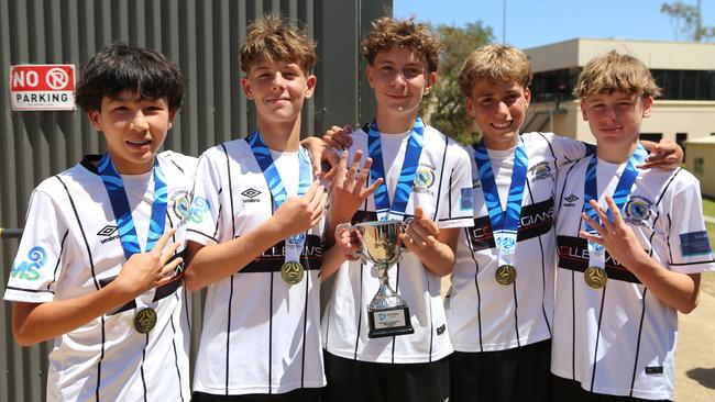
[(466, 113), (474, 118), (490, 149), (516, 145), (526, 119), (531, 92), (515, 81), (477, 79), (466, 98)]

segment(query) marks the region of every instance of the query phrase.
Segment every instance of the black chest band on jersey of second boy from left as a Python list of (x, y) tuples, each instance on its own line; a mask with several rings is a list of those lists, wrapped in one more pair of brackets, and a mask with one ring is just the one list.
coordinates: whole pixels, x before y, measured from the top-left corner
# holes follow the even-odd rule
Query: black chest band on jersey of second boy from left
[[(256, 259), (249, 263), (238, 273), (278, 272), (285, 263), (285, 241), (263, 252)], [(322, 242), (320, 236), (309, 234), (300, 254), (300, 263), (306, 270), (320, 270), (322, 266)]]

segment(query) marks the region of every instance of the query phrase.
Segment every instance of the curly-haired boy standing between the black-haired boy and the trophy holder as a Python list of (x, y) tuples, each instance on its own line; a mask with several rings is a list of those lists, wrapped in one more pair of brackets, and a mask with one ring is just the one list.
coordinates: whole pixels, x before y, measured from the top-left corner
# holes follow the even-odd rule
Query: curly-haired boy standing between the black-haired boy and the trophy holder
[[(284, 19), (253, 23), (240, 60), (258, 130), (199, 159), (187, 284), (209, 289), (194, 401), (317, 401), (326, 383), (319, 275), (342, 254), (322, 252), (327, 194), (299, 145), (301, 108), (316, 86), (315, 46)], [(365, 178), (351, 181), (355, 199), (333, 200), (346, 211), (342, 221), (370, 193)]]

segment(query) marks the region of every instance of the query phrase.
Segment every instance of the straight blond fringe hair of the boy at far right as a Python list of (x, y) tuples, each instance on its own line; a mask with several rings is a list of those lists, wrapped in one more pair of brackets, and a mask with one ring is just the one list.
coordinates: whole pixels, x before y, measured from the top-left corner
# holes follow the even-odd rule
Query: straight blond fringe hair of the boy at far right
[(594, 93), (612, 92), (641, 93), (656, 98), (660, 96), (660, 88), (642, 62), (610, 51), (586, 63), (573, 88), (573, 94), (584, 99)]

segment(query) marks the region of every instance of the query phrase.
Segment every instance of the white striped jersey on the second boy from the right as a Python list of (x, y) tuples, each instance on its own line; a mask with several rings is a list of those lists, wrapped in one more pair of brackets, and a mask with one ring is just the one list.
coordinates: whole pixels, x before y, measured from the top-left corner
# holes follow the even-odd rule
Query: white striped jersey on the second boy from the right
[[(551, 337), (557, 168), (585, 156), (586, 145), (553, 133), (522, 134), (521, 141), (528, 170), (514, 259), (517, 276), (508, 286), (495, 279), (497, 249), (474, 148), (466, 147), (474, 181), (474, 227), (460, 234), (452, 284), (444, 300), (452, 346), (458, 351), (505, 350)], [(505, 209), (515, 148), (487, 153)]]

